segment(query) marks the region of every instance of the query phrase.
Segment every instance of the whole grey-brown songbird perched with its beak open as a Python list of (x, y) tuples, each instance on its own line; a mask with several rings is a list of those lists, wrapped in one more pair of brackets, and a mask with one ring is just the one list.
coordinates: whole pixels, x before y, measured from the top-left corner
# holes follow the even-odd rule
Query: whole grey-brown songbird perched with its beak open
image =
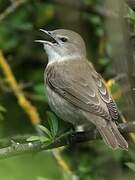
[(127, 150), (128, 143), (116, 125), (117, 105), (104, 79), (88, 61), (81, 35), (67, 29), (40, 31), (49, 37), (36, 41), (48, 55), (44, 80), (52, 111), (73, 126), (93, 123), (110, 148)]

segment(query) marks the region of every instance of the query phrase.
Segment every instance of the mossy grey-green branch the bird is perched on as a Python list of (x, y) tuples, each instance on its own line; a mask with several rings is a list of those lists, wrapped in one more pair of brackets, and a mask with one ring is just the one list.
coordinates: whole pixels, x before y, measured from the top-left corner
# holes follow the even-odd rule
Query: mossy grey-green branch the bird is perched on
[[(121, 133), (135, 132), (135, 122), (121, 123), (118, 126)], [(51, 144), (46, 145), (39, 141), (28, 143), (16, 143), (12, 141), (11, 146), (0, 149), (0, 159), (12, 156), (22, 155), (25, 153), (40, 152), (43, 150), (54, 149), (62, 146), (72, 145), (76, 143), (87, 142), (100, 138), (97, 130), (92, 129), (87, 132), (68, 132), (55, 139)]]

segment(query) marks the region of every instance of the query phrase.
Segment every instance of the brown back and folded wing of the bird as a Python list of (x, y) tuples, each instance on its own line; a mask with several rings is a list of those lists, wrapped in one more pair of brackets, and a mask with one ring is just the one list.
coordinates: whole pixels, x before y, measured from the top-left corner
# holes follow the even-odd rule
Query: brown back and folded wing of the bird
[[(103, 79), (87, 61), (79, 63), (75, 60), (72, 63), (49, 65), (46, 74), (47, 85), (79, 109), (106, 120), (110, 120), (111, 116), (114, 116), (113, 113), (110, 113), (110, 116), (106, 110), (111, 106), (109, 105), (111, 99)], [(108, 104), (107, 107), (106, 104)], [(113, 112), (113, 108), (109, 108), (110, 112)]]

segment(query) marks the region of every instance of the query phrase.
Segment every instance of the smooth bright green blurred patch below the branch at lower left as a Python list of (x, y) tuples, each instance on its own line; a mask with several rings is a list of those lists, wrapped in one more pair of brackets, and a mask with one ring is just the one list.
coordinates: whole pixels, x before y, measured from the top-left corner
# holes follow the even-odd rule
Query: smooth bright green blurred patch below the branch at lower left
[(60, 168), (52, 154), (44, 152), (1, 160), (0, 176), (3, 180), (62, 179)]

